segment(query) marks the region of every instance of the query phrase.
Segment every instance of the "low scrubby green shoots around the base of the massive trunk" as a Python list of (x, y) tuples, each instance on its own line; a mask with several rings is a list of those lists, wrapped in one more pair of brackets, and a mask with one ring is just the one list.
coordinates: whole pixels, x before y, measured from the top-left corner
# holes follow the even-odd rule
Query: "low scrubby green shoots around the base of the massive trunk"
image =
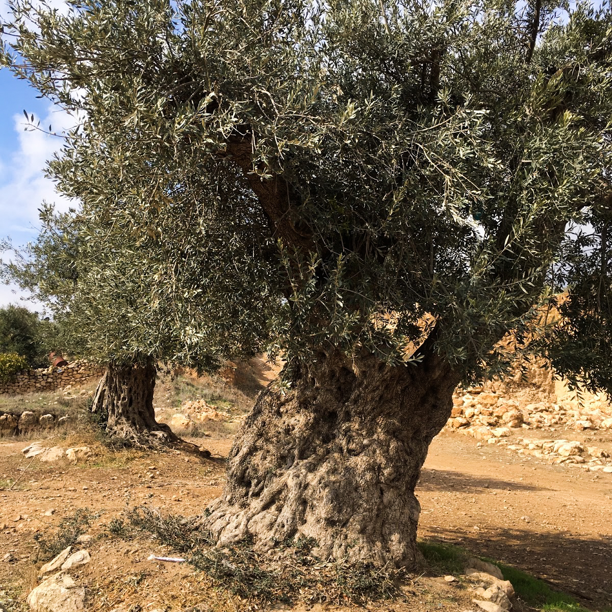
[(127, 523), (113, 525), (114, 532), (123, 534), (131, 528), (151, 533), (166, 547), (184, 554), (215, 586), (254, 603), (290, 605), (299, 599), (330, 605), (363, 604), (389, 599), (398, 592), (400, 570), (370, 564), (322, 562), (312, 553), (317, 545), (312, 538), (277, 542), (282, 560), (271, 561), (248, 539), (217, 548), (211, 534), (194, 528), (192, 521), (181, 516), (162, 516), (155, 510), (140, 507), (130, 510), (126, 518)]

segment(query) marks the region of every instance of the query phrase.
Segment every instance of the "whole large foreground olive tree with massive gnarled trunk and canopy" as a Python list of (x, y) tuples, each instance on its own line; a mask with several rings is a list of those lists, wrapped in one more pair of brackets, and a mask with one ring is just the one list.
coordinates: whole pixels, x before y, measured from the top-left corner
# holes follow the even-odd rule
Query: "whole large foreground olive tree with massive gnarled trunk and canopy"
[[(59, 189), (88, 223), (129, 228), (114, 256), (152, 294), (227, 311), (232, 342), (286, 359), (203, 518), (220, 543), (302, 535), (324, 558), (411, 565), (414, 487), (458, 384), (532, 341), (611, 388), (612, 18), (563, 8), (13, 4), (4, 63), (81, 118), (49, 165)], [(204, 259), (166, 241), (193, 228)]]

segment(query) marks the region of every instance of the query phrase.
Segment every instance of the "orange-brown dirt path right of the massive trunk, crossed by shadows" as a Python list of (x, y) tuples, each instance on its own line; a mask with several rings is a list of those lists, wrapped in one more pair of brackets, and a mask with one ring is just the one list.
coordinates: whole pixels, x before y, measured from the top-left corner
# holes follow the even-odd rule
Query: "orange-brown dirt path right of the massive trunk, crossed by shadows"
[(420, 535), (459, 543), (612, 604), (612, 474), (547, 465), (442, 433), (417, 487)]

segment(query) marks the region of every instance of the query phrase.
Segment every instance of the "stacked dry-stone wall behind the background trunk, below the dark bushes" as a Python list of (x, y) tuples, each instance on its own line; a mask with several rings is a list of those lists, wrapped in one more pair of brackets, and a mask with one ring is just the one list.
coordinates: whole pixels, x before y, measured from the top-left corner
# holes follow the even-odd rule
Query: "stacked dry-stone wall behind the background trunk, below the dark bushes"
[(69, 385), (78, 386), (93, 378), (102, 378), (104, 368), (88, 361), (74, 361), (63, 367), (25, 370), (8, 383), (0, 383), (0, 394), (20, 394), (34, 391), (54, 391)]

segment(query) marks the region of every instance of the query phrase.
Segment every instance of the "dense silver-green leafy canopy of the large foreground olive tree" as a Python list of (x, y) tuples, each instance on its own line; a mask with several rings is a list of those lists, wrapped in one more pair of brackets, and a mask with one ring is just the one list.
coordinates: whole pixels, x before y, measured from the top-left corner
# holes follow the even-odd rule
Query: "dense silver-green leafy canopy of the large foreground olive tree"
[(100, 354), (399, 363), (429, 335), (468, 381), (535, 332), (610, 388), (607, 302), (589, 363), (584, 310), (538, 329), (559, 289), (610, 286), (612, 17), (564, 8), (17, 0), (2, 61), (78, 124), (49, 165), (78, 211), (45, 212), (78, 289), (48, 294)]

